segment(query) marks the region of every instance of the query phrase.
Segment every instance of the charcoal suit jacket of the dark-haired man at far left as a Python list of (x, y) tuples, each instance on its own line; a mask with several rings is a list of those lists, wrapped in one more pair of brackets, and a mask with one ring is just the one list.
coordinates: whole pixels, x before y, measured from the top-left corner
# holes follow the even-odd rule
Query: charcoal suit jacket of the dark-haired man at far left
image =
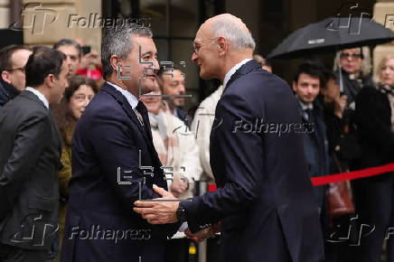
[(0, 238), (18, 248), (49, 249), (59, 209), (61, 139), (31, 91), (0, 110)]

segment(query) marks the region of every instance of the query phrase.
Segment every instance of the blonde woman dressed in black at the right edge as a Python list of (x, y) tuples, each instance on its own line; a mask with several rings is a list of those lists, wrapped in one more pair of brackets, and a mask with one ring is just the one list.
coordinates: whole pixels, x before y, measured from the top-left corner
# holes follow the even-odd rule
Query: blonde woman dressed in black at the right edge
[[(394, 56), (386, 56), (380, 62), (378, 76), (376, 87), (364, 87), (356, 99), (355, 122), (362, 149), (356, 169), (394, 161)], [(374, 227), (367, 236), (361, 232), (361, 248), (356, 261), (380, 262), (383, 240), (388, 236), (389, 227), (394, 226), (394, 174), (355, 180), (352, 186), (360, 222)], [(388, 261), (393, 262), (392, 236), (387, 250)]]

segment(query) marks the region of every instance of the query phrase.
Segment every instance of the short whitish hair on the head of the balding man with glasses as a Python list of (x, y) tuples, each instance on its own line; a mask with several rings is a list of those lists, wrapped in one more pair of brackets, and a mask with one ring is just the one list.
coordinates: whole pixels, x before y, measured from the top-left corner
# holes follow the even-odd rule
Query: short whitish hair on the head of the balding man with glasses
[(235, 49), (255, 49), (256, 42), (254, 41), (251, 33), (246, 32), (243, 28), (239, 27), (238, 23), (234, 23), (234, 21), (231, 21), (230, 19), (220, 18), (215, 20), (212, 25), (214, 36), (224, 37)]

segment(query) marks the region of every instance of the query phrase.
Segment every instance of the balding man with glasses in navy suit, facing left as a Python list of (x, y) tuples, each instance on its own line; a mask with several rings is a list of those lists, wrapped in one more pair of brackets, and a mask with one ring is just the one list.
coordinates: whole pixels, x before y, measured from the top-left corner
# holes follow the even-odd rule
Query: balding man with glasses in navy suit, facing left
[[(228, 262), (321, 261), (323, 239), (297, 132), (296, 98), (284, 80), (251, 60), (254, 47), (247, 26), (231, 14), (202, 24), (192, 60), (203, 79), (223, 80), (225, 86), (211, 130), (218, 190), (180, 203), (137, 201), (135, 211), (154, 224), (187, 221), (192, 238), (206, 238), (205, 230), (214, 231), (212, 223), (221, 221)], [(256, 121), (258, 130), (250, 130)], [(163, 189), (156, 192), (172, 198)]]

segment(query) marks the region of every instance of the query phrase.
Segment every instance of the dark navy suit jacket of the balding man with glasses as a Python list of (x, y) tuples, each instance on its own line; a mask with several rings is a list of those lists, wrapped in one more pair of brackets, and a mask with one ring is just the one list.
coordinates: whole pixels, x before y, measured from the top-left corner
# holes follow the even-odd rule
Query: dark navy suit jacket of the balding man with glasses
[[(247, 125), (236, 129), (240, 120)], [(248, 123), (254, 126), (256, 120), (258, 126), (264, 121), (274, 127), (250, 130)], [(182, 202), (192, 231), (222, 221), (225, 261), (317, 262), (324, 257), (302, 134), (292, 130), (279, 136), (275, 127), (300, 122), (296, 98), (284, 80), (256, 61), (232, 75), (211, 130), (218, 190)]]

